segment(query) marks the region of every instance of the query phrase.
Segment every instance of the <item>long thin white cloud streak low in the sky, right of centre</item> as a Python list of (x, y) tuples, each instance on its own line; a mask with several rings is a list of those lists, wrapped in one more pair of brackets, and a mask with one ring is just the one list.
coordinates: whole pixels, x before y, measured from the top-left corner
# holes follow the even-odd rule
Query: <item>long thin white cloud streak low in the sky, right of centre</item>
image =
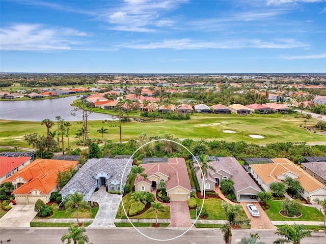
[(125, 43), (119, 45), (123, 48), (132, 49), (242, 49), (242, 48), (271, 48), (271, 49), (285, 49), (285, 48), (301, 48), (307, 47), (307, 44), (297, 42), (293, 39), (284, 39), (273, 41), (262, 41), (260, 39), (244, 39), (244, 40), (229, 40), (221, 42), (206, 42), (194, 39), (173, 39), (164, 40), (161, 42), (150, 42), (147, 44), (130, 44)]

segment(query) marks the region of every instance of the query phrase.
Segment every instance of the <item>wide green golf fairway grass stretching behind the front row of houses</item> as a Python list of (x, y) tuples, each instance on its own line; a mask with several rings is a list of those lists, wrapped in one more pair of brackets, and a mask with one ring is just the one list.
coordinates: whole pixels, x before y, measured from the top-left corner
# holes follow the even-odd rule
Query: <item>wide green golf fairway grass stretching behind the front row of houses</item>
[[(304, 125), (305, 118), (296, 118), (295, 114), (194, 114), (189, 120), (165, 120), (160, 122), (131, 123), (122, 124), (122, 141), (137, 138), (141, 133), (148, 136), (162, 136), (171, 134), (175, 138), (185, 139), (205, 139), (205, 140), (225, 140), (227, 142), (245, 141), (247, 143), (275, 143), (275, 142), (324, 142), (325, 136), (308, 132), (300, 125)], [(317, 124), (317, 119), (310, 119), (308, 125)], [(227, 122), (227, 123), (223, 123)], [(0, 120), (0, 145), (30, 147), (24, 140), (24, 135), (37, 132), (46, 134), (46, 127), (40, 122), (32, 121), (11, 121)], [(76, 148), (75, 133), (81, 128), (76, 121), (71, 122), (70, 146)], [(205, 126), (202, 126), (205, 125)], [(55, 124), (50, 130), (55, 131)], [(97, 132), (101, 127), (107, 130), (108, 134), (103, 135), (103, 139), (120, 141), (119, 123), (112, 121), (103, 123), (102, 120), (90, 121), (89, 137), (93, 140), (101, 139), (101, 134)], [(224, 130), (232, 130), (236, 133), (223, 133)], [(263, 139), (256, 139), (250, 135), (261, 135)], [(65, 142), (67, 146), (67, 141)]]

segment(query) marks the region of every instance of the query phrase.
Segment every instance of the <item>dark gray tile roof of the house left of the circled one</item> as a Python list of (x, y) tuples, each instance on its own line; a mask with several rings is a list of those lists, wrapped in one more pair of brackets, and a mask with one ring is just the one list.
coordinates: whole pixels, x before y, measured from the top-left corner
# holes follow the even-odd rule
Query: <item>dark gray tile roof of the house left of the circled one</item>
[(128, 159), (89, 159), (68, 181), (67, 185), (62, 188), (60, 193), (68, 192), (72, 188), (78, 192), (88, 193), (95, 185), (96, 179), (94, 175), (101, 171), (111, 175), (110, 181), (114, 179), (120, 181), (127, 163), (129, 166), (126, 167), (126, 171), (123, 174), (123, 184), (130, 172), (132, 160), (128, 162)]

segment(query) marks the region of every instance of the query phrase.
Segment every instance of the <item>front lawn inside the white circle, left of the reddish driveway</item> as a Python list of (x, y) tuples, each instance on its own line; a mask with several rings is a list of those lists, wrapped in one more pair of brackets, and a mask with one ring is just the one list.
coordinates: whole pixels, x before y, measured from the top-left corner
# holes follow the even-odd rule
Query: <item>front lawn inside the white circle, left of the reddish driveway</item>
[[(123, 198), (123, 204), (124, 204), (124, 208), (126, 210), (126, 212), (128, 212), (128, 209), (130, 207), (130, 197), (131, 197), (131, 192), (129, 192), (128, 194), (126, 194)], [(157, 218), (158, 219), (170, 219), (170, 206), (164, 206), (165, 212), (157, 212)], [(117, 219), (127, 219), (126, 215), (124, 214), (123, 211), (123, 207), (122, 207), (122, 203), (120, 202), (119, 208), (118, 208), (118, 212), (116, 215)], [(129, 219), (155, 219), (155, 211), (146, 211), (141, 215), (138, 216), (133, 216), (133, 217), (129, 217)]]

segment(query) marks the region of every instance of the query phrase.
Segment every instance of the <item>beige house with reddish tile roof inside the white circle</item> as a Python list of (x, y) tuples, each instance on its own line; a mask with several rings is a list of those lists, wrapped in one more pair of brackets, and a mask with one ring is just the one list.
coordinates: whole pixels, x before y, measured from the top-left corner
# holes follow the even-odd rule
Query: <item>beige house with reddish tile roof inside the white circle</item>
[(166, 192), (170, 201), (187, 201), (190, 199), (192, 188), (185, 160), (171, 158), (168, 162), (141, 164), (147, 178), (138, 175), (134, 180), (134, 190), (151, 192), (160, 181), (166, 182)]

